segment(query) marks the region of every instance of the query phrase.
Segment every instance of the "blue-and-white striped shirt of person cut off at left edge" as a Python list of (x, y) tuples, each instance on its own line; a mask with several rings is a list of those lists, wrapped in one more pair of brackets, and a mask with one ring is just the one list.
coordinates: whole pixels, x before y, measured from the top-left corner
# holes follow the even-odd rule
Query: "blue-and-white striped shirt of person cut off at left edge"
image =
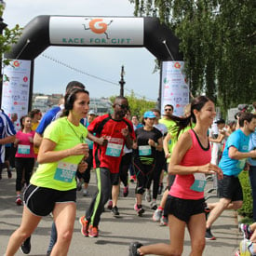
[[(0, 111), (0, 139), (16, 134), (16, 130), (9, 117)], [(6, 146), (0, 144), (0, 164), (5, 162)]]

